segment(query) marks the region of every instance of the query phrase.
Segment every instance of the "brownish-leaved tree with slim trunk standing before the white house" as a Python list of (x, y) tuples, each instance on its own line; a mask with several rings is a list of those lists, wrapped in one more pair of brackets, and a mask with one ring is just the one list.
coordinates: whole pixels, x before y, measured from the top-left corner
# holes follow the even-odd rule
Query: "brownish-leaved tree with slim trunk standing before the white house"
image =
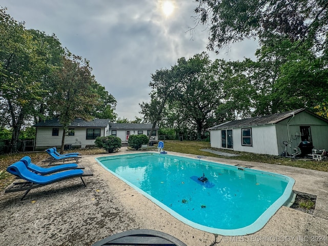
[(91, 119), (91, 112), (101, 103), (96, 90), (99, 87), (91, 71), (87, 59), (67, 52), (63, 57), (63, 67), (53, 77), (48, 105), (51, 115), (59, 118), (64, 129), (61, 153), (71, 122), (76, 118)]

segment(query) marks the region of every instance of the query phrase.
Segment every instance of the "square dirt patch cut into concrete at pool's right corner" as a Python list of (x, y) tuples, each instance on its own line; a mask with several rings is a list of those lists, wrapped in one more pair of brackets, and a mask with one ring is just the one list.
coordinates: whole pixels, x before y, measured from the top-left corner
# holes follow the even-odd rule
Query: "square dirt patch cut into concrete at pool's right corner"
[(298, 191), (294, 192), (296, 193), (296, 198), (291, 208), (308, 214), (314, 214), (317, 196)]

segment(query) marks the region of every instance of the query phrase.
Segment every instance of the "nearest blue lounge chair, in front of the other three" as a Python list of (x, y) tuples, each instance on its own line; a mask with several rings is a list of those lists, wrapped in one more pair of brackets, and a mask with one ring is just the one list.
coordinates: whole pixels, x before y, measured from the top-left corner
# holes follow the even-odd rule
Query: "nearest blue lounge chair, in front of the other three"
[(17, 176), (18, 178), (26, 180), (25, 182), (14, 182), (12, 186), (5, 190), (6, 193), (26, 190), (24, 196), (20, 200), (23, 200), (31, 189), (46, 186), (50, 183), (58, 182), (64, 179), (80, 177), (84, 186), (86, 186), (82, 177), (93, 176), (91, 171), (81, 169), (68, 170), (51, 174), (49, 176), (38, 175), (28, 170), (23, 161), (17, 161), (10, 165), (7, 168), (7, 172)]

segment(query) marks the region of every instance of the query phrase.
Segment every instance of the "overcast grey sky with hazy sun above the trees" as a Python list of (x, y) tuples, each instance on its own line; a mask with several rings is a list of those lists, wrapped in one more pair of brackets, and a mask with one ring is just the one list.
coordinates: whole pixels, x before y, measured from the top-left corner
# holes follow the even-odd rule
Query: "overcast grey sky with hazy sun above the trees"
[[(195, 26), (193, 0), (170, 1), (171, 14), (163, 12), (164, 0), (0, 0), (7, 13), (25, 22), (27, 29), (54, 33), (73, 54), (90, 60), (97, 82), (112, 94), (120, 118), (135, 119), (139, 103), (149, 101), (151, 74), (171, 68), (206, 50), (208, 32)], [(168, 10), (169, 11), (169, 10)], [(169, 11), (170, 12), (170, 11)], [(227, 53), (209, 52), (226, 60), (254, 58), (257, 44), (248, 40)]]

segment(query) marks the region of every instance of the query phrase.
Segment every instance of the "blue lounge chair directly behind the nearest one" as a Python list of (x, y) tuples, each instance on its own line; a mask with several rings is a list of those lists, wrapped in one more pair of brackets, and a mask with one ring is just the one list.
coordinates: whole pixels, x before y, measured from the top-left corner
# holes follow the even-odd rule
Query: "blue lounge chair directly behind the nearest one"
[(68, 163), (68, 164), (54, 166), (51, 168), (43, 168), (33, 164), (31, 162), (31, 157), (29, 156), (24, 156), (22, 159), (20, 159), (20, 161), (22, 161), (25, 164), (28, 170), (41, 175), (61, 172), (70, 169), (84, 169), (83, 166), (80, 166), (76, 163)]

